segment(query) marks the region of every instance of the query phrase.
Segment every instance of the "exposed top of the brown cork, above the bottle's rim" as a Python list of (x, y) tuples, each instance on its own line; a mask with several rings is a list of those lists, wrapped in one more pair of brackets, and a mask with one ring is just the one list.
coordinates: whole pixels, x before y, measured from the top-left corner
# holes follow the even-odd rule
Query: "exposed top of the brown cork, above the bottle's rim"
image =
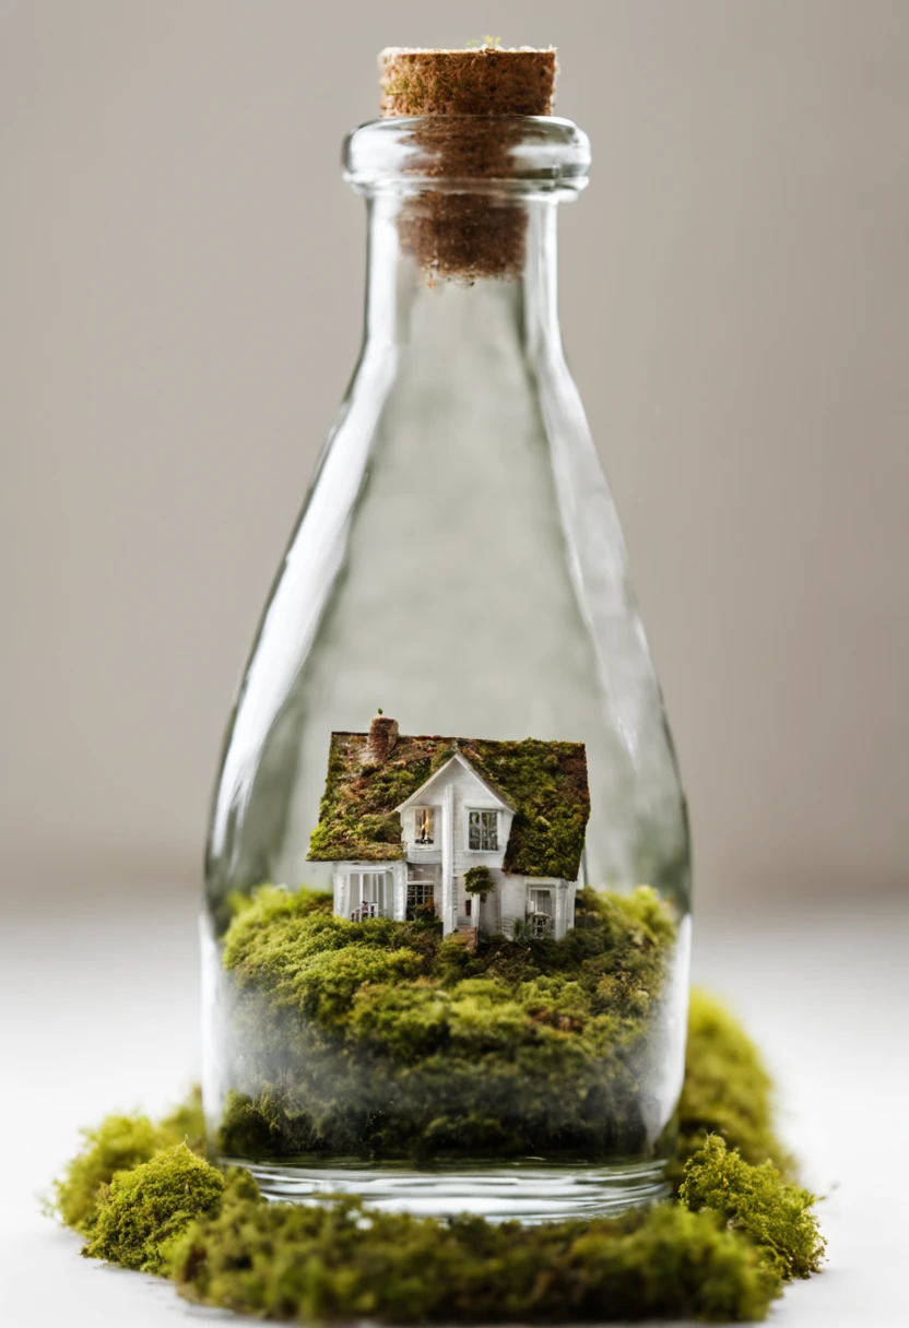
[(379, 54), (383, 116), (552, 116), (556, 48), (481, 46)]

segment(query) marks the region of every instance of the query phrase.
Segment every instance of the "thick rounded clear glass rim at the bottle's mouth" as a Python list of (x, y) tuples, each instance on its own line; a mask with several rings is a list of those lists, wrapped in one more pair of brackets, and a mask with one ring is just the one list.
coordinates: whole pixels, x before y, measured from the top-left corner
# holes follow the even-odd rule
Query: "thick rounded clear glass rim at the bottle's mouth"
[(359, 193), (494, 191), (570, 197), (587, 183), (590, 141), (557, 116), (371, 120), (344, 139)]

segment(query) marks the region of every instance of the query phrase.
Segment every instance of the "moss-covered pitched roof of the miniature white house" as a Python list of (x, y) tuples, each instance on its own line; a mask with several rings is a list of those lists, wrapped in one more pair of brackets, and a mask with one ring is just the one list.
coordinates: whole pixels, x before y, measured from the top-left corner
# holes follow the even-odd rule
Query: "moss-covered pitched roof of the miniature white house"
[(514, 807), (504, 869), (575, 880), (590, 815), (583, 742), (518, 742), (399, 736), (379, 766), (363, 765), (367, 733), (332, 733), (311, 862), (391, 862), (404, 857), (395, 810), (460, 753)]

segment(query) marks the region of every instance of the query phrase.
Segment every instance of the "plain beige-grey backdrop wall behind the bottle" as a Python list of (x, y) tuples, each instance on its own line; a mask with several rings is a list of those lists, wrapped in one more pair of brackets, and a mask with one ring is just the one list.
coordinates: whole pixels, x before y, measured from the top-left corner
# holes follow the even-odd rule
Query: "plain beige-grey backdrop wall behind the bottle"
[(570, 361), (702, 906), (902, 890), (901, 0), (0, 3), (0, 837), (198, 880), (223, 725), (357, 349), (388, 42), (561, 50)]

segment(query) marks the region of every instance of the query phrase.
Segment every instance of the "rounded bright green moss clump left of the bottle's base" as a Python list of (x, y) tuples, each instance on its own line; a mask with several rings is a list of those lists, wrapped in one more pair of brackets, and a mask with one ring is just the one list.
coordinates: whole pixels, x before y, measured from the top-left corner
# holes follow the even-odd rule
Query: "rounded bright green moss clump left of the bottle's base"
[(225, 1178), (185, 1143), (118, 1171), (100, 1191), (94, 1235), (82, 1254), (140, 1272), (166, 1272), (169, 1248), (194, 1218), (214, 1211)]

